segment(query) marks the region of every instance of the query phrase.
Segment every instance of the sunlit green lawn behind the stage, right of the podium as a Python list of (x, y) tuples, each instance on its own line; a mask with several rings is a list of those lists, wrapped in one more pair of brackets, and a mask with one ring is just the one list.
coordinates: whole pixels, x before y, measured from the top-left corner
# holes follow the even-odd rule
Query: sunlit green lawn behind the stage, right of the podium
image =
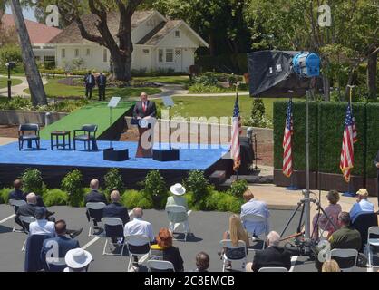
[[(235, 96), (218, 97), (174, 97), (175, 106), (171, 115), (190, 117), (230, 117), (233, 113)], [(284, 100), (280, 98), (265, 98), (266, 115), (272, 120), (273, 102)], [(297, 99), (296, 99), (297, 100)], [(253, 99), (248, 96), (239, 96), (239, 111), (241, 117), (248, 118), (251, 113)], [(162, 102), (159, 101), (161, 104)]]

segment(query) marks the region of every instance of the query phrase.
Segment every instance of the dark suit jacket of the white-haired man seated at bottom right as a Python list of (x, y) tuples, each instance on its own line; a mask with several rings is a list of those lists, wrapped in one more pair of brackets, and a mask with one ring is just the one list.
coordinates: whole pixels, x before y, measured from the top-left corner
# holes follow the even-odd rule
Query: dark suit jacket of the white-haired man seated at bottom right
[(257, 251), (252, 269), (258, 272), (263, 267), (285, 267), (289, 270), (291, 254), (283, 247), (267, 247), (262, 251)]

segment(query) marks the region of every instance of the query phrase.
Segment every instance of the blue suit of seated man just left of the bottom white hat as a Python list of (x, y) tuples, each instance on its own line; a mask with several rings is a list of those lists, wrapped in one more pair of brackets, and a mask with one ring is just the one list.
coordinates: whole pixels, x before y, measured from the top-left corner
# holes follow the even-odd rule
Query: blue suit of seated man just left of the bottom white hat
[[(57, 237), (45, 239), (42, 250), (41, 250), (41, 260), (42, 260), (43, 264), (45, 264), (47, 252), (53, 247), (53, 246), (47, 247), (48, 242), (55, 242), (58, 245), (58, 255), (59, 255), (58, 257), (60, 257), (60, 258), (64, 258), (64, 256), (66, 256), (68, 251), (70, 251), (74, 248), (80, 247), (78, 240), (73, 239), (73, 238), (69, 238), (66, 236), (57, 236)], [(50, 271), (51, 272), (63, 272), (63, 269), (65, 267), (66, 266), (52, 266), (50, 268)], [(48, 267), (45, 266), (45, 269), (47, 270)]]

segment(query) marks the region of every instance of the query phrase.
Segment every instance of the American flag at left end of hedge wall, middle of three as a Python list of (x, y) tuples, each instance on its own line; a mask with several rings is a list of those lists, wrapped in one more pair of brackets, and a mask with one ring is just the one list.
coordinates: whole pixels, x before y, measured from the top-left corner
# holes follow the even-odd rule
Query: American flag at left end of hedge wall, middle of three
[(294, 132), (292, 99), (288, 102), (286, 129), (283, 137), (283, 174), (289, 178), (293, 172), (292, 164), (292, 134)]

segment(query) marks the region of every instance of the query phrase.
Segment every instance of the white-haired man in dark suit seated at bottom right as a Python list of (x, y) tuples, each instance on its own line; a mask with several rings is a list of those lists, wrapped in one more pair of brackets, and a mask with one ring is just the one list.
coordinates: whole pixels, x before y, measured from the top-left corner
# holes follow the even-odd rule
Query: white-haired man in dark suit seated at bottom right
[(253, 263), (248, 263), (248, 272), (258, 272), (263, 267), (291, 268), (291, 254), (284, 247), (279, 247), (280, 236), (277, 232), (270, 232), (267, 236), (267, 248), (256, 252)]

